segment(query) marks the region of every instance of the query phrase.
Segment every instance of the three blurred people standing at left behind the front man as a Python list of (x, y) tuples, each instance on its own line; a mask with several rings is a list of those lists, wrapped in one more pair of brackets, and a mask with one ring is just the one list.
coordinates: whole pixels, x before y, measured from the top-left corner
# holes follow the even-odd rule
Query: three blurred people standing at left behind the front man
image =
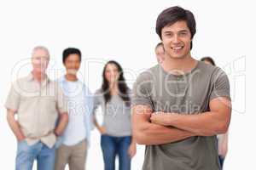
[[(45, 71), (49, 51), (39, 46), (32, 50), (32, 72), (13, 83), (6, 101), (9, 126), (18, 139), (16, 169), (84, 170), (90, 131), (101, 133), (104, 169), (131, 169), (136, 142), (131, 135), (131, 89), (125, 83), (122, 67), (108, 61), (102, 73), (102, 87), (91, 94), (77, 77), (82, 54), (78, 48), (63, 51), (66, 74), (51, 81)], [(96, 121), (101, 106), (103, 123)], [(18, 120), (15, 120), (18, 113)]]

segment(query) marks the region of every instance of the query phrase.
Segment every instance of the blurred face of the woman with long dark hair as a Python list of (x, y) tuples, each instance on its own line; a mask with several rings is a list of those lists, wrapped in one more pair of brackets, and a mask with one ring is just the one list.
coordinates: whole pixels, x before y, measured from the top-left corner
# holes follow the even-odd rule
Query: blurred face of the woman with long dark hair
[(105, 71), (105, 77), (109, 83), (117, 82), (119, 79), (118, 67), (114, 64), (108, 64)]

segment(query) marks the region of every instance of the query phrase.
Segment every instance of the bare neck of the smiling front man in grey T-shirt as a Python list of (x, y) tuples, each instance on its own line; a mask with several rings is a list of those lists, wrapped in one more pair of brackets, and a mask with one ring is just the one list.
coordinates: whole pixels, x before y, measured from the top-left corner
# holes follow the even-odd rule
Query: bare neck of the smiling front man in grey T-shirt
[(163, 61), (161, 66), (166, 72), (171, 72), (172, 74), (183, 74), (193, 70), (196, 64), (197, 60), (193, 59), (190, 54), (182, 59), (174, 59), (166, 55), (166, 59)]

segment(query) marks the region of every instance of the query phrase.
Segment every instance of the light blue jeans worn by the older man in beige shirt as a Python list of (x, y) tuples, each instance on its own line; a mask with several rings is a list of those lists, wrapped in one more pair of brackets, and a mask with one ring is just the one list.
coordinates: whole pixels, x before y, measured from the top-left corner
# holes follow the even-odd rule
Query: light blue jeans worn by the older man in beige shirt
[(32, 170), (34, 160), (38, 161), (38, 170), (54, 170), (55, 147), (50, 149), (42, 142), (32, 145), (26, 140), (18, 142), (16, 170)]

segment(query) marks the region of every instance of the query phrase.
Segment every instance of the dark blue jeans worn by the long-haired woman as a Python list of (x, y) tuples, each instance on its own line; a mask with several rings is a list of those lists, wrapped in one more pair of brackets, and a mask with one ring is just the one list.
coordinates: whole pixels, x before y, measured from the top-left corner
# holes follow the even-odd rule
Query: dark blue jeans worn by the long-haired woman
[(116, 155), (119, 156), (119, 170), (131, 169), (131, 158), (128, 149), (131, 144), (131, 136), (113, 137), (102, 135), (101, 145), (105, 170), (114, 170)]

